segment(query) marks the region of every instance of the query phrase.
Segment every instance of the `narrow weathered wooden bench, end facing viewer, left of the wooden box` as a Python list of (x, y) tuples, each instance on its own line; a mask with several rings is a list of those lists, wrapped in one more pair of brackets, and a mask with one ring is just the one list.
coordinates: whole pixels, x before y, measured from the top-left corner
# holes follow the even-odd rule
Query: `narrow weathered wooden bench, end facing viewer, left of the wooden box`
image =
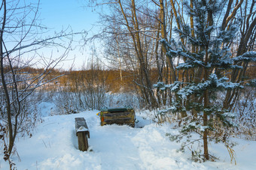
[(87, 151), (89, 148), (88, 138), (90, 138), (90, 132), (84, 118), (75, 118), (75, 132), (78, 136), (78, 149), (80, 151)]

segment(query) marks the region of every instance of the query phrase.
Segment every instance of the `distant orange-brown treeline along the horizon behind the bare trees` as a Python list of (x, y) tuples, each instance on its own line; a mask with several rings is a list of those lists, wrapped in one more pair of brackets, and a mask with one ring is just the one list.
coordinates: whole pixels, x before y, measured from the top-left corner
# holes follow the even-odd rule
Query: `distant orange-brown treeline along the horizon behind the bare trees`
[[(41, 73), (41, 70), (42, 69), (34, 67), (25, 67), (23, 69), (20, 69), (19, 72), (20, 74), (37, 75), (38, 73)], [(230, 71), (231, 70), (226, 70), (227, 77), (229, 79), (231, 78), (229, 74)], [(163, 77), (164, 82), (168, 81), (168, 77), (170, 78), (170, 75), (168, 75), (166, 72), (167, 70), (165, 70), (166, 76)], [(255, 72), (256, 67), (254, 66), (254, 64), (249, 65), (245, 73), (245, 78), (254, 78)], [(182, 81), (182, 79), (184, 79), (183, 74), (184, 73), (181, 72), (178, 74), (179, 81)], [(44, 80), (45, 82), (47, 82), (47, 80), (52, 79), (52, 81), (45, 86), (45, 89), (41, 89), (44, 89), (46, 91), (57, 91), (57, 89), (60, 87), (69, 86), (69, 91), (72, 92), (77, 90), (76, 85), (78, 85), (78, 82), (84, 82), (84, 80), (90, 79), (90, 83), (92, 85), (100, 85), (102, 82), (104, 82), (106, 87), (108, 87), (107, 91), (111, 91), (111, 93), (134, 92), (139, 88), (139, 85), (135, 82), (137, 76), (138, 72), (134, 70), (103, 70), (99, 68), (91, 68), (90, 70), (63, 71), (59, 69), (53, 69), (47, 75), (47, 79)], [(159, 80), (157, 67), (151, 68), (151, 70), (149, 71), (149, 76), (151, 82), (153, 84), (157, 84)], [(46, 88), (47, 86), (51, 88)]]

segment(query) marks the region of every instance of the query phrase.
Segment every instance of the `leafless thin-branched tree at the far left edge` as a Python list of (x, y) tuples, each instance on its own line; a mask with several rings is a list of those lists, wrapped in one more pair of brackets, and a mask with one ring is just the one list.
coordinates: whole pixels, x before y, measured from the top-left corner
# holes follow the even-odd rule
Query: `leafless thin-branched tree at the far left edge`
[[(0, 7), (0, 97), (5, 105), (0, 123), (8, 127), (6, 160), (11, 157), (17, 133), (29, 114), (23, 109), (23, 106), (29, 104), (26, 99), (36, 88), (56, 79), (48, 77), (50, 72), (65, 60), (71, 49), (73, 36), (80, 34), (66, 30), (44, 38), (46, 28), (38, 22), (39, 4), (40, 1), (27, 4), (26, 1), (2, 0)], [(41, 55), (40, 50), (46, 46), (54, 46), (62, 50), (62, 54)], [(38, 64), (43, 67), (41, 73), (24, 72), (26, 67)]]

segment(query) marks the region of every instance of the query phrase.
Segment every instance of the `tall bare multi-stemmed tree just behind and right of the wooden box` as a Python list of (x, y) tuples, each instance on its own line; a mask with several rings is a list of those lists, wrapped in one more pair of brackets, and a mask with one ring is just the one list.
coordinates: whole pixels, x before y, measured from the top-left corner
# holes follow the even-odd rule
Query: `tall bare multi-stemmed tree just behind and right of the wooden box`
[(108, 38), (109, 36), (105, 35), (110, 34), (110, 38), (115, 42), (113, 43), (111, 39), (108, 40), (108, 43), (113, 44), (109, 46), (111, 47), (109, 51), (122, 58), (121, 61), (126, 67), (137, 71), (134, 83), (139, 94), (142, 95), (147, 106), (157, 108), (161, 102), (160, 97), (157, 101), (152, 90), (151, 70), (158, 67), (160, 79), (163, 79), (161, 74), (164, 70), (165, 60), (159, 52), (160, 25), (157, 21), (158, 13), (154, 4), (152, 5), (151, 1), (117, 0), (96, 1), (96, 3), (98, 3), (96, 5), (108, 5), (111, 9), (111, 13), (102, 15), (102, 23), (107, 23), (105, 34), (102, 37)]

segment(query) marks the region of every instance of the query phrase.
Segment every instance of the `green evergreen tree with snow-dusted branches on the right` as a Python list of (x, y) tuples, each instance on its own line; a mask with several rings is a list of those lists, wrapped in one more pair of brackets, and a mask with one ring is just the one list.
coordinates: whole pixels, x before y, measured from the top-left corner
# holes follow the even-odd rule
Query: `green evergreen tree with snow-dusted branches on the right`
[[(220, 139), (217, 134), (218, 126), (221, 128), (233, 126), (230, 121), (233, 114), (229, 110), (222, 109), (221, 101), (215, 100), (218, 91), (242, 88), (242, 85), (230, 82), (230, 79), (225, 76), (225, 71), (241, 68), (235, 65), (234, 61), (243, 60), (244, 57), (232, 58), (227, 46), (236, 36), (239, 22), (231, 25), (228, 31), (223, 31), (221, 25), (214, 19), (225, 3), (226, 1), (195, 0), (193, 8), (186, 4), (188, 13), (194, 16), (195, 36), (192, 35), (189, 25), (180, 23), (181, 29), (177, 28), (175, 31), (180, 39), (182, 37), (187, 40), (187, 46), (175, 40), (172, 40), (172, 43), (161, 40), (168, 47), (166, 55), (173, 60), (183, 58), (184, 62), (178, 64), (175, 69), (187, 70), (190, 73), (200, 72), (197, 74), (200, 76), (190, 77), (190, 81), (177, 81), (172, 85), (159, 82), (155, 87), (162, 90), (168, 88), (178, 95), (178, 100), (172, 103), (171, 109), (177, 108), (178, 112), (181, 110), (187, 112), (187, 117), (181, 124), (181, 135), (171, 136), (171, 138), (180, 140), (182, 136), (189, 136), (192, 132), (198, 133), (203, 140), (204, 160), (209, 160), (209, 136), (217, 142), (226, 143), (227, 133)], [(247, 55), (247, 58), (254, 60), (255, 52), (248, 52)], [(196, 111), (196, 114), (193, 114), (193, 111)], [(186, 144), (182, 145), (183, 148), (184, 146)]]

